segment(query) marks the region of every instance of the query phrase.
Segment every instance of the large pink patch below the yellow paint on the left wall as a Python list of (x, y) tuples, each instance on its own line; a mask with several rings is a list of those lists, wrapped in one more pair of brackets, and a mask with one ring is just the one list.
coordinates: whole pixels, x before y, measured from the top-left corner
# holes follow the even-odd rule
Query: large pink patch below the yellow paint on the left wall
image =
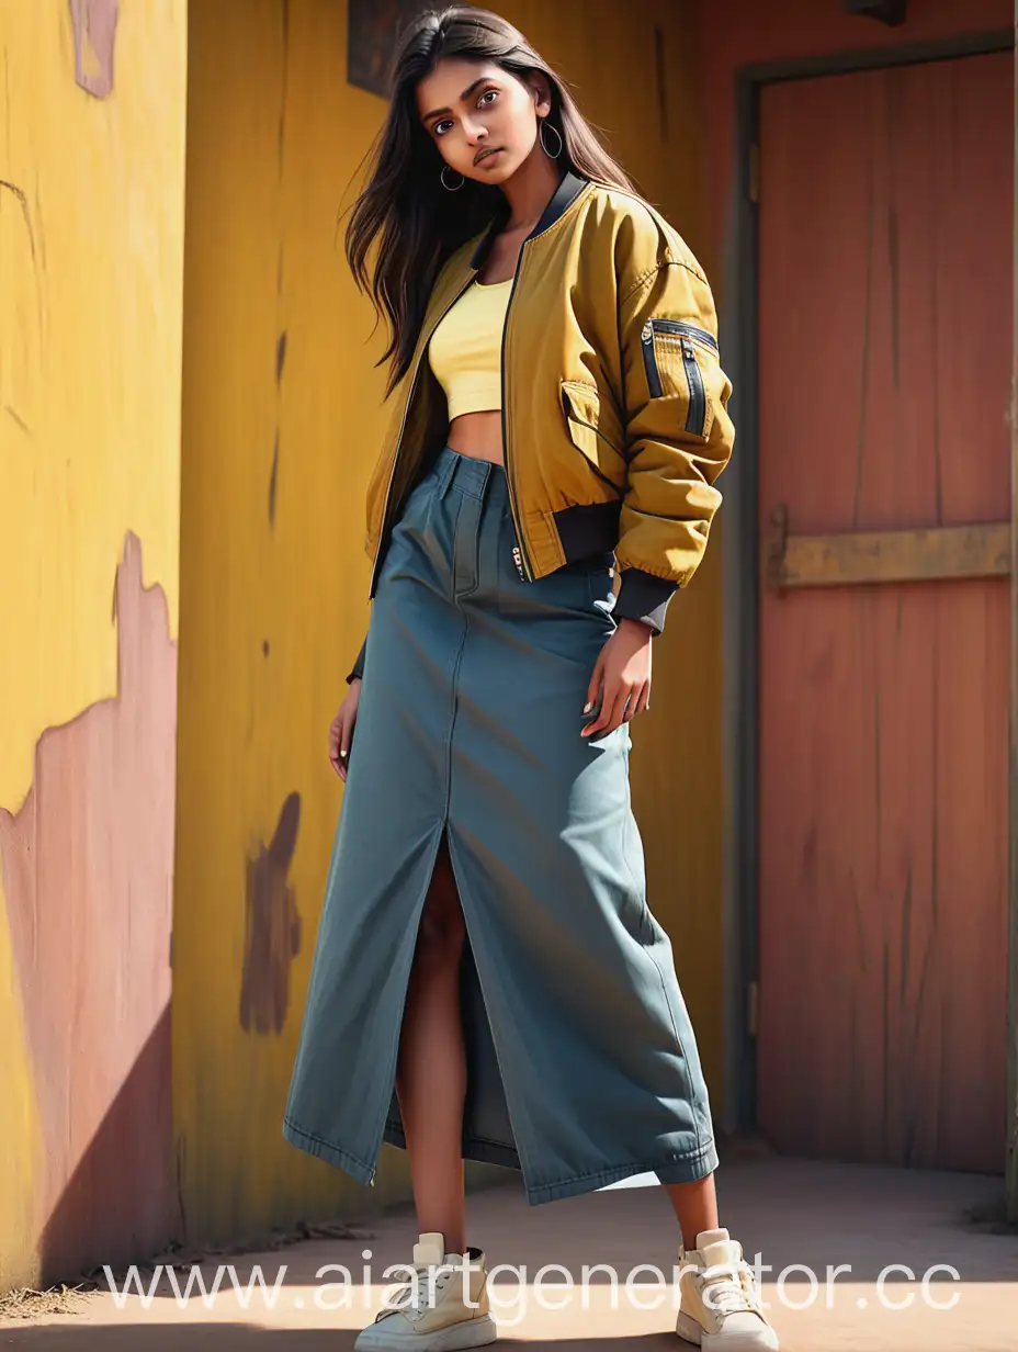
[(42, 1122), (41, 1280), (161, 1249), (172, 1168), (169, 940), (177, 649), (127, 534), (116, 569), (118, 690), (47, 729), (0, 868)]

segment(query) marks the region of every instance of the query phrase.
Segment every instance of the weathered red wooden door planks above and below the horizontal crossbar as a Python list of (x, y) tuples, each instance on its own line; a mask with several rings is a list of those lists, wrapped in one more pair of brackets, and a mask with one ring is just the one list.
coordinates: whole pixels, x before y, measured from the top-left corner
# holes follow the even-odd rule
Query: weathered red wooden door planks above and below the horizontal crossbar
[[(765, 539), (780, 504), (788, 546), (900, 533), (864, 572), (913, 577), (959, 542), (906, 533), (1007, 521), (1011, 85), (1000, 53), (764, 91)], [(1000, 1172), (1007, 579), (831, 557), (761, 583), (760, 1128)]]

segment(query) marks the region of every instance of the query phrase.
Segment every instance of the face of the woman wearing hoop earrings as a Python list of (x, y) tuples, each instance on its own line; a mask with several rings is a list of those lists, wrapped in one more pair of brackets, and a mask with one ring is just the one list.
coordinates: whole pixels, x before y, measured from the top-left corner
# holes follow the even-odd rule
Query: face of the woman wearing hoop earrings
[(523, 84), (492, 61), (439, 61), (416, 88), (418, 112), (447, 165), (479, 183), (504, 183), (531, 154), (548, 81)]

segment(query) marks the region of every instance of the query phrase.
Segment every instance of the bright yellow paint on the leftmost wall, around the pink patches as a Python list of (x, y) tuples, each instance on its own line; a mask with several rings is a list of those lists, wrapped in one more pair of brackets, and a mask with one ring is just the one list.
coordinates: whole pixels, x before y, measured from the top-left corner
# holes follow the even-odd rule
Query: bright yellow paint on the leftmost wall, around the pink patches
[[(127, 531), (176, 631), (185, 20), (122, 5), (100, 99), (66, 0), (0, 0), (0, 811), (43, 731), (116, 695)], [(38, 1272), (37, 1086), (62, 1072), (23, 1006), (0, 873), (0, 1290)]]

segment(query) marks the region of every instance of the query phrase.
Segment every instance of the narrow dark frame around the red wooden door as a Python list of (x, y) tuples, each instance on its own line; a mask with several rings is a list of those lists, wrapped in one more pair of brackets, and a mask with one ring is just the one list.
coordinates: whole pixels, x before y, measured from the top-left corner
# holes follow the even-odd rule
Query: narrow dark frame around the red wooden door
[[(729, 280), (721, 304), (725, 366), (733, 381), (731, 414), (738, 449), (726, 475), (722, 531), (723, 606), (723, 768), (726, 790), (725, 859), (725, 1121), (726, 1130), (757, 1129), (757, 1044), (754, 990), (758, 979), (760, 932), (760, 500), (758, 500), (758, 268), (760, 97), (767, 85), (817, 76), (961, 59), (1015, 49), (1015, 30), (961, 34), (933, 42), (911, 42), (865, 50), (834, 51), (764, 65), (735, 73), (735, 165), (733, 228), (725, 242), (723, 273)], [(1018, 146), (1017, 146), (1018, 153)], [(1015, 234), (1018, 254), (1018, 231)], [(1018, 288), (1018, 258), (1015, 287)], [(1017, 303), (1018, 316), (1018, 303)], [(1017, 318), (1018, 324), (1018, 318)], [(1018, 342), (1014, 345), (1018, 347)], [(1013, 360), (1014, 354), (1013, 354)], [(1018, 377), (1013, 406), (1018, 410)], [(1011, 760), (1010, 760), (1010, 956), (1009, 1007), (1018, 1040), (1018, 416), (1013, 431), (1011, 506)], [(1018, 1059), (1018, 1049), (1009, 1048)], [(1018, 1082), (1018, 1064), (1009, 1068)], [(1011, 1091), (1011, 1096), (1018, 1088)], [(1009, 1098), (1010, 1103), (1010, 1098)], [(1018, 1106), (1009, 1140), (1018, 1152)], [(1018, 1160), (1013, 1161), (1018, 1169)]]

